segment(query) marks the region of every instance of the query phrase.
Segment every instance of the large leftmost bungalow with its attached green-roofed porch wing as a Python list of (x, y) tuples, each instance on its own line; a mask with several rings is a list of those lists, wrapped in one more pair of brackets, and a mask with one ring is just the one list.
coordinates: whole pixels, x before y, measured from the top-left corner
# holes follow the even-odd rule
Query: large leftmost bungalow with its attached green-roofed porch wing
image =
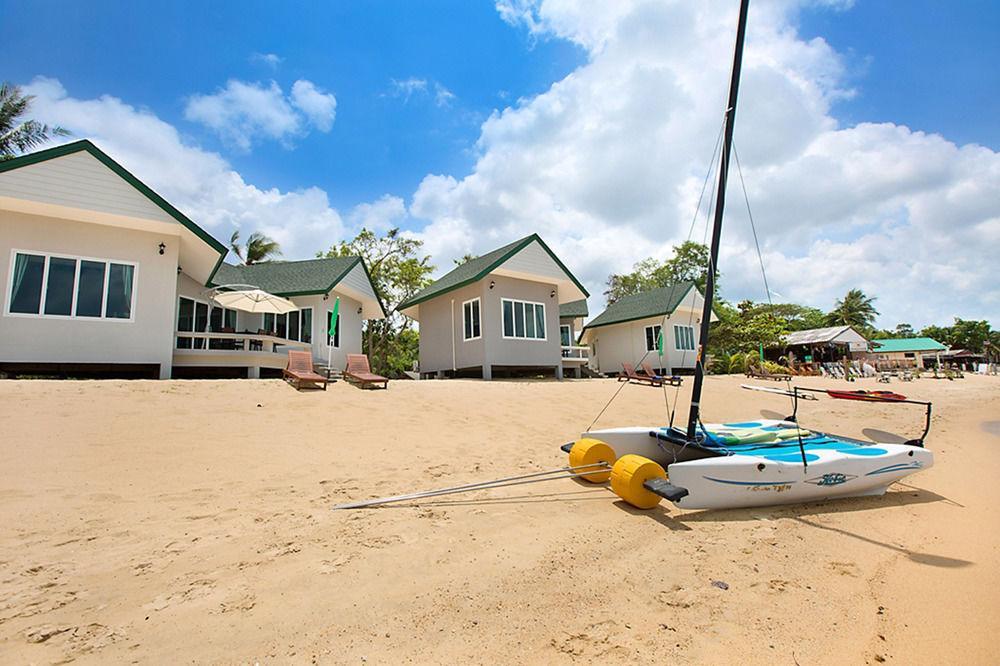
[[(90, 141), (0, 162), (0, 371), (257, 377), (280, 374), (287, 349), (343, 367), (362, 321), (385, 316), (359, 257), (233, 266), (227, 253)], [(219, 307), (225, 284), (298, 309)]]

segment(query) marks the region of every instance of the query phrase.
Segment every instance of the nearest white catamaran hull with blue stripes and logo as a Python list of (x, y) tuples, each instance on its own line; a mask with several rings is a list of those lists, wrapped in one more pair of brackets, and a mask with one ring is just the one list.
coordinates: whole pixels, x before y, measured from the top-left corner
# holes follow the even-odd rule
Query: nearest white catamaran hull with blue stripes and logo
[[(866, 447), (868, 448), (868, 447)], [(934, 455), (902, 444), (873, 444), (878, 455), (810, 450), (811, 460), (774, 461), (764, 455), (732, 455), (679, 462), (667, 467), (670, 483), (688, 495), (684, 509), (729, 509), (815, 502), (837, 497), (882, 495), (904, 476), (927, 469)]]

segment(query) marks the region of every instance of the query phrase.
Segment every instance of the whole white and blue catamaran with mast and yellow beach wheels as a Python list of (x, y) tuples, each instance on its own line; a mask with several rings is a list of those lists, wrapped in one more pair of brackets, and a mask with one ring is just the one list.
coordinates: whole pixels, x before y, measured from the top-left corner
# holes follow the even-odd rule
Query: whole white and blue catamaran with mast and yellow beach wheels
[[(740, 4), (729, 101), (721, 132), (705, 303), (701, 318), (697, 322), (701, 326), (701, 332), (686, 427), (675, 427), (674, 411), (668, 409), (669, 423), (666, 426), (628, 426), (603, 430), (588, 428), (580, 439), (562, 447), (569, 454), (568, 467), (451, 488), (352, 502), (335, 508), (376, 506), (389, 502), (559, 478), (578, 478), (594, 483), (605, 483), (610, 480), (611, 489), (616, 495), (641, 509), (653, 508), (662, 499), (668, 499), (685, 509), (768, 506), (839, 497), (882, 495), (895, 481), (934, 464), (934, 455), (924, 448), (924, 439), (927, 437), (931, 422), (930, 403), (908, 400), (903, 395), (887, 391), (744, 386), (755, 391), (789, 396), (792, 399), (791, 415), (782, 420), (753, 419), (715, 424), (705, 424), (701, 421), (701, 394), (705, 379), (703, 359), (708, 345), (709, 324), (715, 297), (715, 275), (718, 270), (722, 216), (726, 203), (726, 181), (736, 120), (736, 100), (748, 5), (749, 0), (742, 0)], [(699, 207), (700, 205), (699, 202)], [(751, 224), (752, 221), (751, 216)], [(763, 272), (763, 262), (761, 268)], [(665, 322), (661, 331), (663, 328)], [(644, 360), (645, 357), (640, 359), (640, 363)], [(612, 400), (627, 385), (628, 383), (621, 384)], [(669, 390), (665, 385), (662, 388), (664, 391)], [(679, 387), (676, 390), (679, 390)], [(819, 394), (859, 403), (922, 405), (926, 408), (923, 433), (903, 444), (889, 444), (860, 441), (803, 428), (797, 417), (799, 401), (815, 400)], [(676, 394), (674, 404), (676, 405)], [(601, 414), (603, 412), (604, 410)], [(598, 418), (601, 414), (598, 414)]]

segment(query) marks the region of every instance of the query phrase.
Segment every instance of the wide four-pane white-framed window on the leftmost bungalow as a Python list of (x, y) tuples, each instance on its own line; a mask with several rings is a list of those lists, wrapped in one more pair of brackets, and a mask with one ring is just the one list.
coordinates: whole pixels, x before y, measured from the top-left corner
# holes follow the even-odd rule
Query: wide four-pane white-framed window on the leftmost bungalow
[(7, 313), (132, 321), (136, 264), (14, 252)]

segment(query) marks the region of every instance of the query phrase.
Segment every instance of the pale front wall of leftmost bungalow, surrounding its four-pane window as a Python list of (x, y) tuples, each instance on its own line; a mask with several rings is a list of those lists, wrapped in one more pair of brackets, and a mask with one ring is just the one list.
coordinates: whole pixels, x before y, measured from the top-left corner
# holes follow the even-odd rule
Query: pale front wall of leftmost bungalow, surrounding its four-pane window
[[(7, 314), (14, 250), (135, 263), (132, 320)], [(169, 377), (177, 263), (176, 236), (0, 210), (0, 361), (155, 363)]]

